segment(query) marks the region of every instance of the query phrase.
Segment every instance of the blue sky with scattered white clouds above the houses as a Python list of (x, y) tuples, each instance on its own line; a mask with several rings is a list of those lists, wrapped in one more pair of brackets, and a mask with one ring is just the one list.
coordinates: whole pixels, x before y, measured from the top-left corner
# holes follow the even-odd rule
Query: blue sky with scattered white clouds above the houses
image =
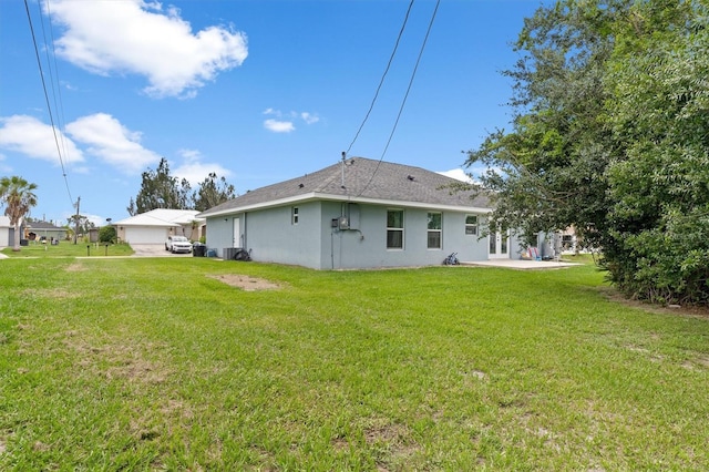
[[(38, 185), (31, 216), (127, 217), (161, 157), (193, 188), (243, 194), (348, 156), (460, 170), (506, 127), (500, 73), (533, 0), (0, 1), (0, 176)], [(51, 110), (51, 117), (50, 117)], [(55, 133), (51, 127), (52, 119)], [(55, 137), (56, 136), (56, 137)], [(59, 147), (59, 151), (58, 151)], [(60, 157), (61, 156), (61, 157)], [(65, 175), (65, 177), (64, 177)]]

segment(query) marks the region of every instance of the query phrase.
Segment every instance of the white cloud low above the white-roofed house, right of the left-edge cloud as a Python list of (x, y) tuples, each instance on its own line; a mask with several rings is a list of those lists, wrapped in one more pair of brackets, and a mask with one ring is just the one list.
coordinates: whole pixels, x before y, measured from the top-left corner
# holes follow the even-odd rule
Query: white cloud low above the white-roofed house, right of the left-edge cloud
[(86, 144), (88, 152), (125, 174), (142, 172), (161, 156), (141, 145), (141, 133), (132, 132), (105, 113), (83, 116), (66, 125), (66, 132)]

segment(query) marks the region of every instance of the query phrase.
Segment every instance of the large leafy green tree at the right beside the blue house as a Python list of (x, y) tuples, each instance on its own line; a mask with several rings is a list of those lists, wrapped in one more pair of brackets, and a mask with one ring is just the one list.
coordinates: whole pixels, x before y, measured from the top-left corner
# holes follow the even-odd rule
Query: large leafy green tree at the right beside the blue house
[(709, 9), (559, 0), (525, 20), (512, 130), (467, 153), (492, 227), (574, 226), (609, 279), (659, 302), (709, 304)]

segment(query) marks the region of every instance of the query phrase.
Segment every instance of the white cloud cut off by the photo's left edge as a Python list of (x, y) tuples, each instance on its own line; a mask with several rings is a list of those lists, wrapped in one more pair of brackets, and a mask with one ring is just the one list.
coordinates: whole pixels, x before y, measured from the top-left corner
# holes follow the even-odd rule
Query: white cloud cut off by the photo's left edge
[(82, 162), (82, 152), (66, 135), (28, 115), (0, 117), (0, 147), (29, 157), (60, 165), (59, 148), (64, 164)]

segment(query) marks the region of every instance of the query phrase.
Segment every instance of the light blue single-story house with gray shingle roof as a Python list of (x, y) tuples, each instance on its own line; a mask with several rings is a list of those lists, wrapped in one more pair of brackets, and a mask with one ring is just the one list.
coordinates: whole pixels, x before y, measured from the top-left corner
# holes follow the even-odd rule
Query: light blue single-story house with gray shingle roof
[(518, 257), (516, 238), (480, 237), (490, 202), (421, 167), (347, 158), (250, 191), (201, 213), (207, 247), (243, 248), (254, 260), (315, 269), (440, 265)]

